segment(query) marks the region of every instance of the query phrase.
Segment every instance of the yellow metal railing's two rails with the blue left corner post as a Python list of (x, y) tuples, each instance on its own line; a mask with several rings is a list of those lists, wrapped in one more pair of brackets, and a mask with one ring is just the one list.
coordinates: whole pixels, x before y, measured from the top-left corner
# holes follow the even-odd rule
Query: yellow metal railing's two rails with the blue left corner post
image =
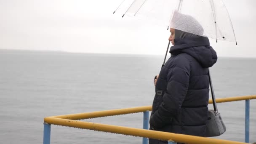
[[(241, 101), (241, 100), (249, 100), (249, 99), (256, 99), (256, 95), (216, 99), (216, 102), (221, 103), (221, 102)], [(209, 100), (209, 103), (212, 103), (212, 100)], [(246, 143), (237, 142), (237, 141), (211, 139), (211, 138), (205, 138), (205, 137), (199, 137), (199, 136), (189, 136), (189, 135), (167, 133), (167, 132), (161, 132), (161, 131), (151, 131), (151, 130), (145, 130), (145, 129), (139, 129), (139, 128), (129, 128), (129, 127), (123, 127), (123, 126), (116, 126), (116, 125), (106, 125), (101, 123), (78, 121), (81, 119), (106, 117), (106, 116), (112, 116), (112, 115), (124, 115), (124, 114), (145, 112), (145, 111), (151, 111), (151, 110), (152, 110), (152, 106), (145, 106), (145, 107), (114, 109), (114, 110), (105, 110), (105, 111), (98, 111), (98, 112), (86, 112), (86, 113), (72, 114), (72, 115), (59, 115), (59, 116), (53, 116), (53, 117), (45, 117), (44, 122), (45, 122), (46, 132), (44, 131), (44, 144), (50, 144), (50, 134), (47, 131), (49, 132), (51, 131), (51, 127), (50, 127), (51, 124), (69, 126), (74, 128), (83, 128), (83, 129), (89, 129), (94, 131), (119, 133), (119, 134), (131, 135), (131, 136), (140, 136), (140, 137), (146, 137), (151, 139), (176, 141), (176, 142), (189, 143), (189, 144), (246, 144)]]

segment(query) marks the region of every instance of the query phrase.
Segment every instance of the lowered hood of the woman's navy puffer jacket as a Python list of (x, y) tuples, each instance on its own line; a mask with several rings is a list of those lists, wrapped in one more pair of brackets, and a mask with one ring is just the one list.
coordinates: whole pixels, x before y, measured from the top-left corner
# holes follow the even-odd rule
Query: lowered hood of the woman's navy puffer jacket
[(217, 61), (216, 51), (210, 46), (207, 37), (186, 37), (174, 39), (170, 49), (172, 55), (187, 53), (194, 57), (203, 68), (212, 67)]

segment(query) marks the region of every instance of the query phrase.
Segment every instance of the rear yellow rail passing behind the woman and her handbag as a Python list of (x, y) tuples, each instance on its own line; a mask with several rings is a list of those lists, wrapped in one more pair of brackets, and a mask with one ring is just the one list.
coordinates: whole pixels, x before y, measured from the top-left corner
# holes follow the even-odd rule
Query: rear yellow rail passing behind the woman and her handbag
[[(230, 102), (230, 101), (241, 101), (241, 100), (247, 100), (247, 99), (256, 99), (256, 95), (221, 98), (221, 99), (216, 99), (216, 102), (222, 103), (222, 102)], [(209, 104), (212, 104), (212, 102), (213, 102), (212, 99), (210, 99)], [(69, 120), (83, 120), (88, 118), (107, 117), (107, 116), (113, 116), (113, 115), (125, 115), (125, 114), (145, 112), (145, 111), (151, 111), (151, 110), (152, 110), (152, 106), (144, 106), (144, 107), (133, 107), (133, 108), (125, 108), (125, 109), (104, 110), (104, 111), (98, 111), (98, 112), (86, 112), (86, 113), (71, 114), (71, 115), (58, 115), (53, 117), (64, 118)]]

